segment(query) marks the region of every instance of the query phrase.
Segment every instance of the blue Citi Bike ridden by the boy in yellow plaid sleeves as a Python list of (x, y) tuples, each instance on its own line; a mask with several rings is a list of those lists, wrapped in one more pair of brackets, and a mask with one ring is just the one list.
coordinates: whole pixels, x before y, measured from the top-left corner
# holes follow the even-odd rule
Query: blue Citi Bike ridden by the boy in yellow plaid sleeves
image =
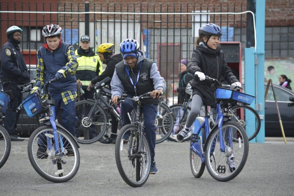
[[(22, 104), (29, 117), (40, 116), (43, 126), (30, 136), (28, 155), (36, 172), (51, 182), (66, 182), (78, 172), (80, 165), (79, 145), (74, 136), (56, 122), (55, 102), (46, 84), (48, 98), (44, 101), (34, 92)], [(42, 151), (40, 150), (42, 149)]]

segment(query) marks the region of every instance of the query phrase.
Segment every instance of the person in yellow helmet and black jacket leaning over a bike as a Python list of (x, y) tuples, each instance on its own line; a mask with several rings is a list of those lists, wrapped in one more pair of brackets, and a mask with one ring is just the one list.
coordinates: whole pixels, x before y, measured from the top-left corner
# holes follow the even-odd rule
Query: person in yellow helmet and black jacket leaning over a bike
[[(97, 48), (97, 53), (98, 56), (100, 57), (101, 61), (106, 64), (105, 70), (101, 73), (101, 75), (97, 76), (94, 78), (90, 85), (88, 86), (87, 90), (91, 88), (93, 84), (96, 84), (97, 82), (100, 82), (106, 77), (112, 78), (115, 65), (121, 61), (123, 61), (123, 57), (121, 54), (114, 54), (113, 53), (114, 49), (114, 44), (113, 43), (102, 43), (101, 45), (98, 46)], [(109, 88), (110, 85), (108, 86)], [(109, 138), (106, 138), (105, 140), (101, 140), (100, 142), (103, 144), (110, 144), (110, 143), (115, 143), (116, 140), (116, 133), (117, 133), (117, 127), (118, 127), (118, 122), (116, 121), (116, 117), (111, 114), (111, 135)]]

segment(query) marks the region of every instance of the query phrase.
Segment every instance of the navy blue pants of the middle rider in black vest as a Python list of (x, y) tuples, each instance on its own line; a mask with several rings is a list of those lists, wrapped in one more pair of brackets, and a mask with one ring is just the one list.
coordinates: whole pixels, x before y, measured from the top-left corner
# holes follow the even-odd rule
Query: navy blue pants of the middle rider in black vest
[[(130, 124), (130, 119), (128, 118), (128, 113), (131, 115), (131, 111), (133, 110), (132, 105), (134, 105), (133, 101), (125, 99), (121, 104), (121, 120), (124, 125)], [(142, 113), (144, 115), (144, 130), (145, 135), (149, 143), (150, 153), (151, 153), (151, 161), (154, 161), (155, 156), (155, 141), (156, 141), (156, 125), (154, 124), (157, 114), (157, 105), (142, 103), (143, 109)]]

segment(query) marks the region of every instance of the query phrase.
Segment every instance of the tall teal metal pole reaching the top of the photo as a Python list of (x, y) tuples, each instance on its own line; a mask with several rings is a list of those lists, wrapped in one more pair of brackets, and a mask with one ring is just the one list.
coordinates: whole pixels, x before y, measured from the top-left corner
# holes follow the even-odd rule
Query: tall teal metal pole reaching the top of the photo
[[(256, 101), (260, 110), (258, 114), (261, 119), (261, 126), (256, 142), (265, 142), (265, 125), (264, 125), (264, 47), (265, 47), (265, 0), (256, 0)], [(262, 106), (261, 106), (262, 105)]]

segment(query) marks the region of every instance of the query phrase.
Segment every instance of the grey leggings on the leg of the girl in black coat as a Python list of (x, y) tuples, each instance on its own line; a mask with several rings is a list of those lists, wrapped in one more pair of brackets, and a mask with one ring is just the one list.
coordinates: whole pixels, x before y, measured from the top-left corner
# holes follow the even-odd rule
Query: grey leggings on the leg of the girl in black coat
[(196, 117), (200, 114), (201, 107), (203, 105), (203, 101), (199, 95), (193, 95), (191, 111), (188, 114), (186, 127), (189, 128), (192, 126)]

